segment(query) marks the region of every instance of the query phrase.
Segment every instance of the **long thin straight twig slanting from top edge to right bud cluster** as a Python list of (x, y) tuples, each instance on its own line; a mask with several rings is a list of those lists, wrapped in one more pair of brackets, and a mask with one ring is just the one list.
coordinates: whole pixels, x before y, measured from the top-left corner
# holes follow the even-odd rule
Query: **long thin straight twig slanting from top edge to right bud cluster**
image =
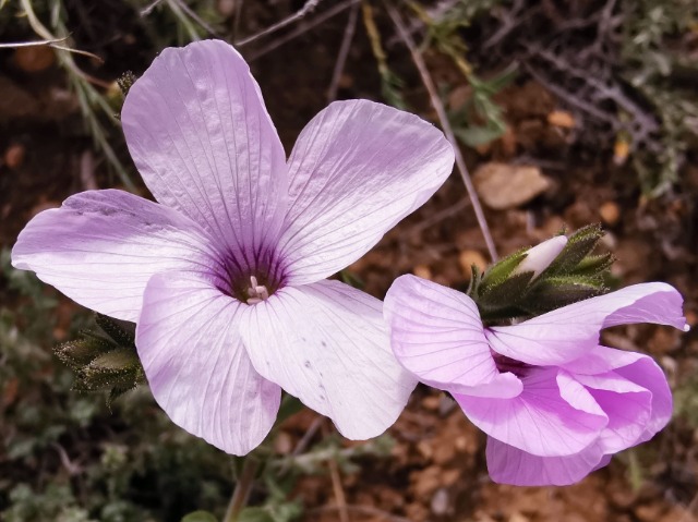
[(488, 251), (490, 252), (490, 257), (492, 262), (497, 260), (497, 251), (494, 245), (494, 241), (492, 240), (492, 234), (490, 233), (490, 227), (488, 227), (488, 221), (485, 220), (484, 213), (482, 211), (482, 206), (480, 205), (480, 198), (478, 197), (478, 193), (472, 185), (472, 180), (470, 179), (470, 174), (468, 173), (468, 168), (466, 167), (466, 161), (462, 158), (462, 154), (460, 153), (460, 147), (458, 146), (458, 142), (456, 141), (456, 136), (454, 135), (454, 131), (448, 121), (448, 117), (446, 116), (446, 110), (444, 109), (444, 105), (438, 97), (438, 92), (436, 90), (436, 86), (426, 69), (426, 64), (422, 59), (422, 54), (420, 53), (414, 40), (407, 31), (405, 23), (400, 14), (393, 7), (389, 1), (385, 1), (385, 7), (388, 12), (388, 16), (393, 20), (395, 27), (397, 28), (402, 43), (407, 46), (412, 56), (412, 61), (417, 69), (419, 70), (419, 74), (424, 83), (424, 87), (429, 92), (429, 97), (431, 98), (432, 106), (438, 116), (438, 121), (441, 122), (441, 126), (444, 130), (444, 134), (446, 138), (450, 142), (450, 145), (454, 148), (454, 154), (456, 155), (456, 167), (460, 172), (460, 177), (462, 178), (462, 182), (466, 185), (466, 191), (468, 192), (468, 197), (472, 203), (472, 209), (476, 213), (476, 218), (478, 219), (478, 224), (480, 226), (480, 230), (482, 231), (482, 235), (484, 238), (484, 242), (488, 245)]

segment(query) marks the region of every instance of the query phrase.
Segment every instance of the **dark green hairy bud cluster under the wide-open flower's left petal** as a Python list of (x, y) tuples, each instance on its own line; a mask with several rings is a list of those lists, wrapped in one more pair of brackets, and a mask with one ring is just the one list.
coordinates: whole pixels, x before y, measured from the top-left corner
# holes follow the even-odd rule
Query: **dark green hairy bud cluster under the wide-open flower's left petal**
[(56, 355), (75, 372), (73, 389), (108, 391), (107, 405), (145, 383), (135, 349), (134, 326), (96, 315), (100, 332), (82, 331), (80, 339), (59, 344)]

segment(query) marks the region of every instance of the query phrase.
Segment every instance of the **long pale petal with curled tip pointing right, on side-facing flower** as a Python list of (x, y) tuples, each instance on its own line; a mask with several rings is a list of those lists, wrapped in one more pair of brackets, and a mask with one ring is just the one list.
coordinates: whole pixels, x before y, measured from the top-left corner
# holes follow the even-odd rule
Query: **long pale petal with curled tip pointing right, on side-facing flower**
[(554, 309), (514, 326), (488, 329), (492, 349), (534, 365), (571, 362), (599, 343), (602, 328), (655, 323), (683, 329), (683, 299), (671, 286), (635, 284)]

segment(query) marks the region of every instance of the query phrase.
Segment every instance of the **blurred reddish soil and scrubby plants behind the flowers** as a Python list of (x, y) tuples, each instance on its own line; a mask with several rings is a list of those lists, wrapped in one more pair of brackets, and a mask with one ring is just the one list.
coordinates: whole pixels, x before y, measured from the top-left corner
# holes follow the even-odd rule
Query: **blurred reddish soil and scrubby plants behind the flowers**
[[(225, 512), (240, 462), (171, 424), (145, 386), (109, 404), (107, 392), (72, 391), (52, 349), (95, 329), (94, 317), (10, 267), (24, 224), (69, 195), (148, 196), (119, 126), (117, 80), (167, 46), (209, 37), (250, 62), (287, 151), (334, 99), (378, 100), (443, 126), (424, 80), (434, 83), (488, 229), (454, 172), (345, 280), (377, 298), (406, 272), (464, 288), (470, 266), (491, 260), (488, 236), (506, 255), (601, 222), (601, 247), (617, 257), (612, 284), (670, 282), (698, 323), (695, 0), (0, 0), (0, 520)], [(51, 44), (17, 45), (38, 40)], [(655, 357), (675, 415), (582, 483), (492, 484), (483, 434), (420, 386), (369, 442), (289, 412), (255, 457), (266, 464), (254, 520), (698, 520), (698, 337), (639, 325), (604, 342)]]

